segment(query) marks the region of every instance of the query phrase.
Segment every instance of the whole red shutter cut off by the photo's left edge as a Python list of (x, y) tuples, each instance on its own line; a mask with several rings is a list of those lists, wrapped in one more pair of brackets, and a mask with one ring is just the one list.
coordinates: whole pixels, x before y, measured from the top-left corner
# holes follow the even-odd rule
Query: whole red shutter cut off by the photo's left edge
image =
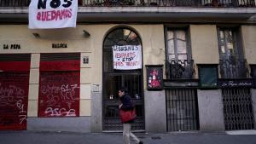
[(0, 55), (0, 130), (26, 130), (30, 55)]

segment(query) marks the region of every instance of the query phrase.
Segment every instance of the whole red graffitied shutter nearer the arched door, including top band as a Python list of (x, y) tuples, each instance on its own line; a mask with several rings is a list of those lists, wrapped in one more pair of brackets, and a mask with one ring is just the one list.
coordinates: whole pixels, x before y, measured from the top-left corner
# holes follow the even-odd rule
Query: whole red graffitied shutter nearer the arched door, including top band
[(78, 117), (80, 55), (41, 55), (39, 117)]

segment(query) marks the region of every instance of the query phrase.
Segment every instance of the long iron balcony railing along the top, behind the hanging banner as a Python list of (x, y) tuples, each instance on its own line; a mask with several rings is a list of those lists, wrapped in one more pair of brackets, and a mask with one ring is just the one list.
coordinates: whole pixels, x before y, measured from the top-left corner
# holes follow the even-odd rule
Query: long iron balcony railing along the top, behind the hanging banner
[[(28, 7), (30, 0), (0, 0), (0, 7)], [(80, 7), (256, 7), (256, 0), (79, 0)]]

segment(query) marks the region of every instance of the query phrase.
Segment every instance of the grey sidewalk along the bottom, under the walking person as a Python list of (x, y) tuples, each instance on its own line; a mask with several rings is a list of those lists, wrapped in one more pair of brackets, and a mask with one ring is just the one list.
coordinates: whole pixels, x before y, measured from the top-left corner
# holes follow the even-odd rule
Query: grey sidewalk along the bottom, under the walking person
[[(256, 144), (256, 135), (201, 132), (136, 135), (145, 144)], [(0, 144), (122, 144), (122, 134), (0, 131)]]

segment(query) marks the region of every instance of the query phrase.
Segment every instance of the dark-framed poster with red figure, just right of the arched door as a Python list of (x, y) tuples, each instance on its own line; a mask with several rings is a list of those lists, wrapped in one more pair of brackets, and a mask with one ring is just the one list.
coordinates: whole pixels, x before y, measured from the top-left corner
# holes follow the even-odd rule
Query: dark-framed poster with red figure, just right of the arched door
[(163, 66), (148, 65), (147, 69), (147, 88), (163, 89)]

